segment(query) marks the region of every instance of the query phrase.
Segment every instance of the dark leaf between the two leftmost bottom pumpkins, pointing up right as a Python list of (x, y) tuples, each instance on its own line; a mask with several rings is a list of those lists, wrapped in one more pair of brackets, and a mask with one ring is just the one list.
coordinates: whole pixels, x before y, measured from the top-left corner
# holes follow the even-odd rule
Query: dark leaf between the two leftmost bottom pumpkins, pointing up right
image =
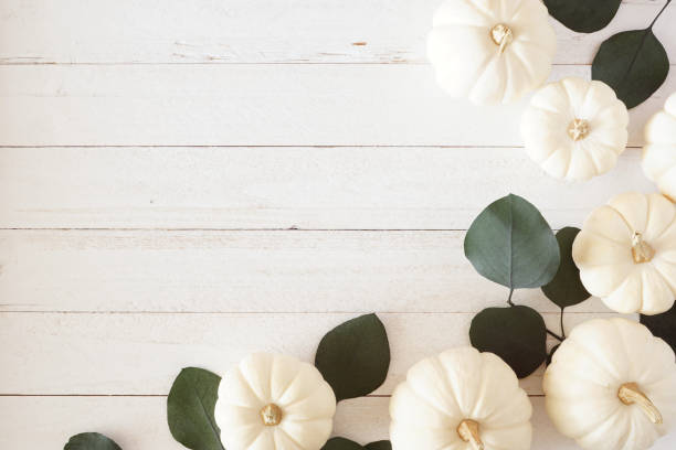
[(380, 319), (362, 315), (328, 332), (319, 343), (315, 365), (338, 401), (376, 390), (390, 366), (388, 333)]

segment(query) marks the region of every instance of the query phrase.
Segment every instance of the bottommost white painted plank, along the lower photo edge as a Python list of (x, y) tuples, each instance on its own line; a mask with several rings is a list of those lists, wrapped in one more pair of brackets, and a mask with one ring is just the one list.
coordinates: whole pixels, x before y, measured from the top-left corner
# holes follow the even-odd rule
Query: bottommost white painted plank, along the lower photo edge
[[(360, 398), (338, 405), (334, 435), (359, 443), (388, 439), (389, 398)], [(547, 417), (545, 399), (531, 397), (532, 450), (577, 450)], [(165, 397), (0, 397), (0, 444), (8, 448), (60, 448), (84, 430), (98, 430), (125, 450), (184, 450), (169, 433)], [(662, 438), (652, 450), (670, 450), (676, 436)], [(3, 446), (4, 447), (4, 446)]]

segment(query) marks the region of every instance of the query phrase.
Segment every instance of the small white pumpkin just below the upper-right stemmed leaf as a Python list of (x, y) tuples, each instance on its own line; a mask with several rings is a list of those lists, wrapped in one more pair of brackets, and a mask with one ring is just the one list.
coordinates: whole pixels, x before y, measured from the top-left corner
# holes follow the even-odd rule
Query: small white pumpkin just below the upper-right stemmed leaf
[(629, 113), (605, 83), (564, 78), (536, 93), (521, 118), (528, 156), (551, 176), (589, 180), (626, 148)]

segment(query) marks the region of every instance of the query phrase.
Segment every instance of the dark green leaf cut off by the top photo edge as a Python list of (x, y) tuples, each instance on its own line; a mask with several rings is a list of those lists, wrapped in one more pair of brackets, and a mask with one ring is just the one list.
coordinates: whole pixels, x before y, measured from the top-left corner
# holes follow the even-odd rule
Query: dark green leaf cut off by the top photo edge
[(608, 25), (622, 0), (545, 0), (549, 13), (569, 29), (593, 33)]

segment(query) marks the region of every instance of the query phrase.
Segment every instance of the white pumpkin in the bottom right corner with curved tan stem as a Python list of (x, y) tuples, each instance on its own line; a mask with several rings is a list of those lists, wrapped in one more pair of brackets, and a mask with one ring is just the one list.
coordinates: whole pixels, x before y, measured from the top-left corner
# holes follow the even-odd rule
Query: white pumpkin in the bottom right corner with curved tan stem
[(583, 449), (645, 450), (674, 428), (674, 351), (626, 319), (573, 329), (543, 381), (547, 411)]

